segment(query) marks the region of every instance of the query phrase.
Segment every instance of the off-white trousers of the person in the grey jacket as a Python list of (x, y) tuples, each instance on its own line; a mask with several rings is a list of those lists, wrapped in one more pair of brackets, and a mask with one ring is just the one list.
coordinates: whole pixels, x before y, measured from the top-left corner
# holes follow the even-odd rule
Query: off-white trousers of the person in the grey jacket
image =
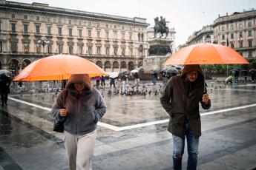
[(72, 135), (64, 132), (65, 149), (70, 170), (92, 169), (91, 159), (96, 140), (96, 130), (85, 135)]

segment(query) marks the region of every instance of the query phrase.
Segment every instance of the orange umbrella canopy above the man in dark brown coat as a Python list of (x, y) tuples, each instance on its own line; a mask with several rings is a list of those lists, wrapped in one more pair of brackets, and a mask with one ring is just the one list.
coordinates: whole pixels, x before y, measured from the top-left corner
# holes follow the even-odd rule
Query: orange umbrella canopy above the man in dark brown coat
[(200, 43), (184, 47), (171, 55), (164, 65), (174, 64), (249, 64), (242, 55), (232, 48)]

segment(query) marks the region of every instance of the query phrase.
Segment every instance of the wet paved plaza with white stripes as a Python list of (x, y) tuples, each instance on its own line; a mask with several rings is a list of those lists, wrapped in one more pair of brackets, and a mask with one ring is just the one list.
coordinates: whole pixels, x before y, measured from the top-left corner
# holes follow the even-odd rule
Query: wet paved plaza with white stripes
[[(172, 169), (172, 137), (158, 83), (145, 84), (145, 95), (100, 89), (108, 109), (98, 123), (93, 169)], [(256, 84), (214, 80), (207, 88), (211, 109), (200, 107), (198, 169), (255, 169)], [(55, 98), (54, 92), (13, 93), (0, 107), (0, 169), (68, 169), (63, 135), (53, 132), (50, 118)], [(185, 152), (183, 169), (186, 159)]]

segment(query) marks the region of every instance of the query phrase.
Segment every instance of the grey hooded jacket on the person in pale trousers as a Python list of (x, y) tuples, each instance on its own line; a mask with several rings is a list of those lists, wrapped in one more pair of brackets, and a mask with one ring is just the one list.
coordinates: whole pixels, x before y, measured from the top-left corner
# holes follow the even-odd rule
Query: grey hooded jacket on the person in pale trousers
[[(82, 92), (76, 91), (74, 83), (85, 84), (85, 89)], [(59, 109), (63, 108), (68, 110), (66, 117), (59, 115)], [(106, 106), (102, 95), (91, 86), (88, 75), (71, 75), (66, 89), (62, 90), (56, 98), (51, 110), (53, 118), (65, 120), (65, 131), (74, 135), (93, 132), (96, 129), (96, 123), (105, 112)]]

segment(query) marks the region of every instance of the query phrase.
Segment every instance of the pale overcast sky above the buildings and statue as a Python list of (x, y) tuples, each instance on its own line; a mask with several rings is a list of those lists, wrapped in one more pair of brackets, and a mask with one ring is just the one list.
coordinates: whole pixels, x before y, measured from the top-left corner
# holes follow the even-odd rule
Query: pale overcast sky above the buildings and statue
[(214, 19), (234, 12), (256, 9), (256, 0), (14, 0), (31, 4), (41, 2), (51, 7), (85, 10), (116, 16), (142, 17), (149, 27), (154, 27), (154, 18), (163, 16), (174, 27), (176, 47), (186, 43), (188, 36)]

